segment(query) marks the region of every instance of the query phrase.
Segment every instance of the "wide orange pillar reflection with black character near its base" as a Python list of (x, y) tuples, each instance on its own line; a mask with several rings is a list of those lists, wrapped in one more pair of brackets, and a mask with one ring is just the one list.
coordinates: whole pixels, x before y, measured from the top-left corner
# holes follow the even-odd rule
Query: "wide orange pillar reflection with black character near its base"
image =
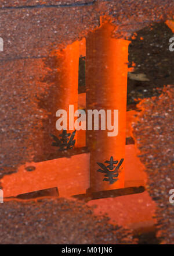
[[(86, 111), (96, 109), (106, 113), (106, 130), (86, 131), (86, 143), (90, 149), (91, 191), (124, 187), (130, 41), (112, 38), (113, 30), (111, 24), (105, 23), (86, 38)], [(107, 110), (112, 110), (112, 113), (118, 110), (117, 136), (108, 136)]]

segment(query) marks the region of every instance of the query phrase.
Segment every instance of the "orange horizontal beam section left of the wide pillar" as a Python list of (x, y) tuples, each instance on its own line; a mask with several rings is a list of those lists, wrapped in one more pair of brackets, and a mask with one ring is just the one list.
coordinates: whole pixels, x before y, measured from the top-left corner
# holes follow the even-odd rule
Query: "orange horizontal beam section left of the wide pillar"
[[(35, 167), (27, 171), (27, 167)], [(28, 168), (27, 168), (28, 169)], [(26, 163), (2, 178), (4, 197), (58, 187), (60, 197), (85, 194), (89, 188), (89, 153), (40, 163)]]

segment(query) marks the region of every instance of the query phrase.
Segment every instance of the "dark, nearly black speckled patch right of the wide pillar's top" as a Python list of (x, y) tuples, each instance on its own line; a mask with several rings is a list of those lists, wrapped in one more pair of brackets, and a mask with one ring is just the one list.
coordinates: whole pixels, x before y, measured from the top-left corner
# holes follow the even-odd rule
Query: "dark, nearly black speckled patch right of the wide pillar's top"
[(157, 87), (172, 85), (174, 80), (174, 52), (169, 51), (173, 33), (165, 23), (152, 23), (137, 31), (129, 44), (129, 66), (136, 64), (133, 73), (143, 73), (148, 81), (128, 78), (128, 105), (135, 99), (158, 96)]

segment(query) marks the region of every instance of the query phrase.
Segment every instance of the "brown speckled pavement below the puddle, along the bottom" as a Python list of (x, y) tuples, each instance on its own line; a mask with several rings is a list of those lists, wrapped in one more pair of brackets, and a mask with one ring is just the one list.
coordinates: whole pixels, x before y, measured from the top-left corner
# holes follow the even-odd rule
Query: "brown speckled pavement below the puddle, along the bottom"
[(0, 244), (136, 243), (130, 232), (93, 215), (92, 208), (70, 199), (5, 202), (0, 205)]

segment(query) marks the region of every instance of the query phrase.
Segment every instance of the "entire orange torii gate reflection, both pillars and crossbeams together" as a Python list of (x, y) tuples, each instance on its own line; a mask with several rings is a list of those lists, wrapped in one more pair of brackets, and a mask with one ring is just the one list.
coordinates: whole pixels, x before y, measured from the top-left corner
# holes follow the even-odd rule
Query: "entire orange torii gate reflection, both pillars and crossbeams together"
[[(83, 43), (76, 41), (61, 51), (63, 62), (57, 71), (61, 98), (53, 109), (53, 120), (50, 124), (53, 125), (52, 131), (55, 130), (55, 135), (59, 136), (60, 132), (56, 130), (56, 110), (64, 109), (68, 113), (71, 104), (74, 105), (74, 111), (84, 107), (87, 110), (118, 110), (118, 135), (108, 136), (107, 130), (100, 129), (77, 131), (75, 148), (87, 146), (89, 152), (20, 166), (17, 173), (1, 180), (4, 197), (16, 197), (52, 187), (58, 187), (60, 196), (68, 197), (85, 194), (89, 189), (97, 192), (144, 185), (146, 177), (141, 172), (137, 174), (137, 180), (135, 176), (131, 179), (133, 170), (143, 169), (136, 158), (135, 145), (125, 146), (130, 41), (113, 38), (113, 30), (113, 25), (104, 23), (88, 34), (86, 47), (84, 40)], [(78, 96), (78, 58), (85, 54), (85, 49), (86, 93)], [(127, 115), (128, 118), (131, 117), (131, 114)], [(116, 170), (118, 165), (119, 171)], [(108, 173), (104, 172), (106, 169), (108, 172), (118, 171), (113, 173), (114, 178), (111, 177), (114, 182), (109, 182)]]

